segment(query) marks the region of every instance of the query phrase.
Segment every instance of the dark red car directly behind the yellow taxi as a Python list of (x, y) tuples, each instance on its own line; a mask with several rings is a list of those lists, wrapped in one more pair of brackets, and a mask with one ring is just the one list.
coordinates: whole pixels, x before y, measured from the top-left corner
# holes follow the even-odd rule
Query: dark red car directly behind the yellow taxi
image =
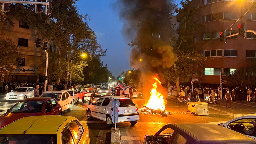
[(0, 116), (0, 128), (23, 117), (40, 115), (62, 115), (61, 106), (55, 98), (27, 98)]

